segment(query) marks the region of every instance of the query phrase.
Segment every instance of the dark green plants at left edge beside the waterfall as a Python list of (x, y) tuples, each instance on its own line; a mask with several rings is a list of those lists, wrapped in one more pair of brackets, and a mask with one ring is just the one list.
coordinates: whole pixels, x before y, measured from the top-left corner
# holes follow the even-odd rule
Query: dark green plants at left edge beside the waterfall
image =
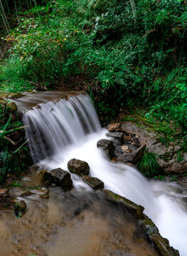
[[(24, 150), (23, 137), (14, 140), (14, 133), (21, 132), (23, 124), (7, 103), (0, 104), (0, 183), (8, 174), (19, 176), (29, 164), (28, 150)], [(12, 137), (13, 136), (13, 137)]]

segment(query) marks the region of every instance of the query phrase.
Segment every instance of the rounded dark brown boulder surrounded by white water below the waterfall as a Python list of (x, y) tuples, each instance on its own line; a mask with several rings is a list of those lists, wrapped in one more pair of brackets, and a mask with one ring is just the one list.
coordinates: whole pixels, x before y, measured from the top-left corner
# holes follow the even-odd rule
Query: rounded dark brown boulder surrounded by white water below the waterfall
[(90, 173), (90, 166), (85, 161), (71, 159), (68, 161), (68, 170), (73, 174), (88, 175)]

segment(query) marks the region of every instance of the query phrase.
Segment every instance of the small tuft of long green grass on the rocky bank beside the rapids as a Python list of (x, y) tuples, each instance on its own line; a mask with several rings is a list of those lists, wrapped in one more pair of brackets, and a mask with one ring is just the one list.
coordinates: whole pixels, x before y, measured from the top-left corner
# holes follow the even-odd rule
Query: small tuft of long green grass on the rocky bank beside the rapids
[(149, 178), (156, 176), (159, 171), (159, 164), (156, 159), (156, 154), (145, 149), (142, 159), (138, 164), (138, 168), (142, 174)]

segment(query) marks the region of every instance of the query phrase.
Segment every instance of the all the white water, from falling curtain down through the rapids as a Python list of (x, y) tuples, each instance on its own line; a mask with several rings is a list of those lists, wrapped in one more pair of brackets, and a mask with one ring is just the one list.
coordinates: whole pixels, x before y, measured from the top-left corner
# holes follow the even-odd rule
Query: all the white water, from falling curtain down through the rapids
[[(148, 181), (139, 171), (125, 164), (110, 162), (97, 141), (106, 138), (90, 97), (78, 95), (56, 104), (48, 102), (24, 114), (26, 136), (30, 140), (34, 161), (46, 169), (67, 170), (70, 159), (81, 159), (90, 165), (90, 175), (100, 178), (105, 188), (144, 206), (162, 236), (187, 255), (187, 213), (182, 197), (187, 196), (175, 183)], [(71, 174), (78, 190), (90, 189)]]

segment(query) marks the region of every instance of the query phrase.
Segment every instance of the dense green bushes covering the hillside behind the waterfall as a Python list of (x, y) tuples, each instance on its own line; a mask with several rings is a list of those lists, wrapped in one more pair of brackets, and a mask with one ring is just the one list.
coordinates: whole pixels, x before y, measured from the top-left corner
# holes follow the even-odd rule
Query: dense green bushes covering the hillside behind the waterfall
[(186, 2), (140, 0), (136, 10), (130, 1), (55, 0), (19, 14), (5, 38), (2, 88), (53, 89), (85, 75), (99, 114), (141, 102), (147, 115), (181, 125), (187, 142)]

